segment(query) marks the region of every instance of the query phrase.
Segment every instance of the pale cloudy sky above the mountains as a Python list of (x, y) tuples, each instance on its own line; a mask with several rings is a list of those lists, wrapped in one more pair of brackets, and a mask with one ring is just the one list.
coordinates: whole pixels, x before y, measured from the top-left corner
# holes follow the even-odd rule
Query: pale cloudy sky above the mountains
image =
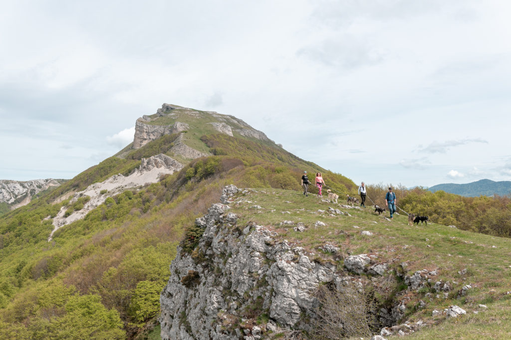
[(357, 183), (511, 180), (511, 2), (0, 7), (0, 179), (72, 178), (169, 103)]

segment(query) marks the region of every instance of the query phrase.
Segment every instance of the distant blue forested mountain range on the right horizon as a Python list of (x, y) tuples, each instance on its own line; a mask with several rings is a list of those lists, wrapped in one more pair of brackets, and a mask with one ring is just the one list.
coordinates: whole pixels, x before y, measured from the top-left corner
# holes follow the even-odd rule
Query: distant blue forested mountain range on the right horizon
[(494, 195), (509, 195), (511, 193), (511, 181), (495, 182), (489, 179), (483, 179), (472, 183), (454, 184), (445, 183), (437, 184), (429, 187), (428, 190), (435, 192), (444, 190), (446, 192), (455, 193), (456, 195), (466, 197), (477, 196), (494, 196)]

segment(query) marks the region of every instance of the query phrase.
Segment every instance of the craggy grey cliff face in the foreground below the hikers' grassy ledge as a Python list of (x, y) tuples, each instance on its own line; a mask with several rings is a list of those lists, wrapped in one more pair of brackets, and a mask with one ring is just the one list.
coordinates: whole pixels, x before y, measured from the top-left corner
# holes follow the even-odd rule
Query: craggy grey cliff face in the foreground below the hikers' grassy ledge
[[(224, 204), (238, 191), (226, 186), (223, 203), (197, 218), (196, 228), (204, 232), (194, 250), (178, 247), (160, 295), (162, 339), (259, 339), (261, 329), (304, 329), (300, 320), (317, 308), (319, 284), (330, 283), (341, 292), (350, 282), (361, 286), (364, 279), (338, 272), (334, 263), (311, 260), (270, 228), (238, 225), (238, 216)], [(366, 255), (362, 259), (371, 261)], [(242, 332), (239, 320), (250, 318), (247, 310), (267, 313), (267, 324)]]

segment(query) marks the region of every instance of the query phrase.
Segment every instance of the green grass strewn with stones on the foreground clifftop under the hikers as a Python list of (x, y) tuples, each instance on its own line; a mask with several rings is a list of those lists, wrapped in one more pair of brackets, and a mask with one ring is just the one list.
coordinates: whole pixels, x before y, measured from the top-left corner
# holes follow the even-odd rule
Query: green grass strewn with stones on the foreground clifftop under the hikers
[[(239, 216), (238, 225), (251, 221), (267, 226), (278, 232), (277, 239), (287, 239), (305, 248), (311, 258), (317, 254), (327, 259), (331, 257), (330, 260), (337, 262), (341, 268), (342, 259), (317, 249), (328, 243), (339, 247), (343, 257), (370, 253), (376, 255), (379, 262), (389, 263), (394, 270), (399, 270), (400, 264), (406, 262), (406, 275), (422, 269), (437, 270), (438, 275), (433, 280), (450, 281), (453, 289), (448, 298), (441, 293), (440, 298), (435, 297), (436, 293), (431, 299), (425, 297), (431, 289), (424, 288), (420, 293), (406, 294), (410, 298), (407, 302), (408, 319), (432, 325), (424, 327), (411, 338), (507, 338), (511, 333), (511, 294), (506, 295), (511, 290), (511, 239), (434, 223), (409, 226), (406, 215), (397, 215), (394, 220), (387, 221), (371, 208), (346, 209), (335, 203), (322, 202), (313, 195), (304, 197), (296, 191), (257, 189), (247, 193), (243, 200), (251, 203), (231, 204), (231, 211)], [(263, 209), (251, 208), (254, 205)], [(329, 207), (351, 216), (330, 216)], [(293, 226), (280, 225), (284, 220), (295, 224), (302, 222), (307, 229), (295, 232)], [(326, 226), (315, 228), (316, 221), (322, 221)], [(361, 235), (362, 230), (374, 235)], [(467, 273), (458, 274), (463, 269), (467, 269)], [(459, 298), (457, 293), (466, 284), (473, 288), (467, 296)], [(412, 306), (420, 300), (426, 302), (426, 307), (415, 311)], [(479, 311), (479, 304), (486, 304), (488, 309)], [(431, 316), (433, 309), (442, 310), (450, 305), (460, 306), (467, 315), (455, 320)], [(479, 311), (479, 314), (473, 311)]]

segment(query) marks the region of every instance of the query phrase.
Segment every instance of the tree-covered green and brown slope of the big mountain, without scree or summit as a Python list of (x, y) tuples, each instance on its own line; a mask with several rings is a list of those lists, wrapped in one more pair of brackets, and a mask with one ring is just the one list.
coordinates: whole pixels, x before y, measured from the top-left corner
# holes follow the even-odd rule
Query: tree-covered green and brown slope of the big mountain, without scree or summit
[[(2, 216), (0, 338), (142, 336), (158, 314), (159, 293), (185, 227), (218, 200), (224, 185), (299, 190), (304, 169), (324, 171), (282, 149), (260, 145), (252, 153), (258, 147), (254, 142), (236, 137), (229, 142), (236, 144), (236, 153), (246, 150), (246, 155), (193, 160), (158, 183), (108, 198), (83, 220), (59, 229), (51, 242), (52, 218), (71, 205), (65, 199), (68, 192), (128, 174), (140, 164), (137, 159), (148, 156), (147, 150), (165, 149), (161, 141), (127, 159), (108, 158)], [(326, 173), (333, 187), (355, 190), (351, 180)]]

